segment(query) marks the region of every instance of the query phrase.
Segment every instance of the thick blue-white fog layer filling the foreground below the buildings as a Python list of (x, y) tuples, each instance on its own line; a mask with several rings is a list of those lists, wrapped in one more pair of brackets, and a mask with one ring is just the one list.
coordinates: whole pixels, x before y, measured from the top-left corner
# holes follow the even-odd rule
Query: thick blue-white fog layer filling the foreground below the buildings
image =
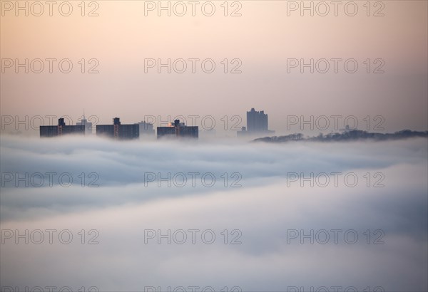
[(427, 151), (2, 136), (1, 287), (427, 291)]

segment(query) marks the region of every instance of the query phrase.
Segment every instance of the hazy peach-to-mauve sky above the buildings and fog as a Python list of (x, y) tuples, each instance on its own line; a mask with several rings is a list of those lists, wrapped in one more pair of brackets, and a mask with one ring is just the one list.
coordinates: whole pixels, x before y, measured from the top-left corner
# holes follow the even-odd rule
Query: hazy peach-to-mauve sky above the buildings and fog
[[(269, 114), (270, 128), (277, 132), (300, 132), (295, 125), (287, 129), (290, 115), (306, 120), (310, 115), (354, 115), (363, 130), (367, 115), (371, 120), (381, 115), (387, 131), (427, 130), (427, 1), (372, 1), (370, 16), (365, 1), (355, 1), (357, 14), (350, 16), (354, 6), (347, 2), (337, 7), (337, 16), (330, 1), (326, 16), (320, 16), (325, 6), (316, 1), (314, 16), (310, 11), (301, 16), (300, 7), (293, 10), (300, 1), (230, 1), (228, 16), (223, 15), (223, 1), (212, 2), (213, 16), (203, 14), (210, 13), (208, 4), (202, 11), (204, 1), (195, 6), (195, 16), (187, 1), (184, 16), (175, 15), (183, 7), (175, 2), (170, 2), (171, 16), (168, 11), (158, 16), (157, 7), (145, 11), (145, 6), (153, 7), (148, 1), (86, 2), (81, 16), (80, 2), (71, 1), (70, 16), (61, 16), (59, 4), (53, 16), (47, 4), (41, 16), (34, 16), (39, 6), (30, 4), (29, 16), (25, 11), (15, 16), (14, 2), (1, 1), (1, 115), (68, 115), (76, 122), (84, 108), (87, 116), (96, 115), (102, 123), (116, 116), (138, 122), (148, 115), (160, 115), (160, 120), (168, 120), (168, 115), (211, 115), (218, 130), (225, 127), (221, 119), (227, 116), (230, 130), (235, 122), (245, 125), (245, 112), (255, 108)], [(61, 6), (61, 13), (67, 10)], [(98, 16), (87, 16), (92, 10)], [(230, 16), (233, 11), (241, 16)], [(24, 63), (25, 58), (29, 63), (35, 58), (68, 58), (73, 69), (61, 73), (56, 62), (49, 73), (44, 61), (41, 73), (31, 72), (31, 67), (29, 73), (24, 68), (15, 73), (15, 64), (9, 68), (4, 60)], [(145, 73), (148, 58), (163, 63), (183, 58), (187, 71), (168, 74), (163, 68), (158, 73), (155, 66)], [(198, 62), (192, 73), (192, 58), (213, 59), (215, 71), (204, 73)], [(225, 58), (228, 73), (221, 63)], [(300, 73), (299, 66), (287, 73), (291, 58), (306, 63), (325, 58), (330, 70), (320, 73), (325, 68), (321, 62), (313, 74), (310, 68)], [(341, 61), (335, 73), (332, 58), (355, 59), (357, 72), (347, 73)], [(81, 59), (86, 73), (81, 73)], [(99, 73), (87, 73), (96, 65), (88, 63), (90, 59), (98, 60)], [(240, 61), (230, 63), (233, 59)], [(230, 73), (239, 64), (242, 73)], [(39, 63), (33, 65), (39, 70)], [(181, 70), (182, 63), (175, 65)], [(384, 73), (373, 73), (377, 68)], [(232, 120), (233, 115), (242, 121)], [(343, 127), (343, 118), (340, 122)], [(4, 128), (14, 130), (13, 125)]]

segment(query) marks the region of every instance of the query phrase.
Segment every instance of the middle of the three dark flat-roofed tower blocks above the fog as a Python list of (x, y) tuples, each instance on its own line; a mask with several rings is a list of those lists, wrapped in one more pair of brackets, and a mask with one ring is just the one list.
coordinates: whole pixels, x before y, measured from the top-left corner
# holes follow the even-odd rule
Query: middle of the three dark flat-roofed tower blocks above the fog
[(96, 135), (118, 140), (131, 140), (140, 137), (140, 125), (122, 125), (120, 118), (113, 118), (113, 125), (96, 125)]

